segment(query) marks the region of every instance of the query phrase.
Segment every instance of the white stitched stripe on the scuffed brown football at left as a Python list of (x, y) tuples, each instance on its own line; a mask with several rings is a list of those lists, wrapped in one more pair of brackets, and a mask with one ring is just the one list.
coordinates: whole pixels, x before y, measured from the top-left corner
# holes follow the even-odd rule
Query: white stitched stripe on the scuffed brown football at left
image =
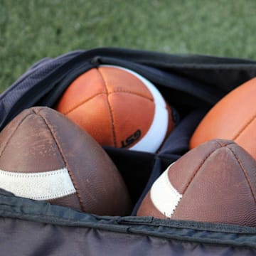
[(76, 192), (66, 168), (38, 173), (0, 170), (0, 188), (35, 200), (60, 198)]

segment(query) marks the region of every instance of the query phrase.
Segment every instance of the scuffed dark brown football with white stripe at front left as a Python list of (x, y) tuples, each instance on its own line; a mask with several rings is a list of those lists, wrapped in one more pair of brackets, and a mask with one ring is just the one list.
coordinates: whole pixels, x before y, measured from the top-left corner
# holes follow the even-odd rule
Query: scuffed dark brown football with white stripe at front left
[(16, 116), (0, 134), (0, 187), (97, 215), (127, 215), (127, 187), (90, 135), (48, 107)]

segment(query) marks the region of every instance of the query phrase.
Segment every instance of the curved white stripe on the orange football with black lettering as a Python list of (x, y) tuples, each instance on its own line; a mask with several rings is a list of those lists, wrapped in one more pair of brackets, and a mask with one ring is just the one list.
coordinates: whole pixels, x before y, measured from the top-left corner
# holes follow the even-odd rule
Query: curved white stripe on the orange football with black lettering
[(161, 146), (162, 142), (164, 142), (164, 138), (166, 137), (166, 132), (169, 123), (169, 114), (168, 110), (166, 109), (166, 102), (164, 100), (164, 97), (161, 95), (159, 90), (149, 80), (142, 77), (142, 75), (139, 75), (138, 73), (135, 73), (132, 70), (128, 70), (127, 68), (122, 68), (119, 66), (102, 66), (119, 68), (120, 70), (125, 70), (128, 73), (131, 73), (139, 80), (141, 80), (144, 83), (144, 85), (148, 88), (148, 90), (151, 92), (155, 104), (153, 122), (151, 123), (151, 127), (149, 127), (149, 130), (146, 132), (144, 137), (139, 142), (137, 142), (137, 144), (131, 146), (129, 149), (137, 151), (146, 151), (151, 153), (156, 152), (156, 150), (159, 149), (159, 147)]

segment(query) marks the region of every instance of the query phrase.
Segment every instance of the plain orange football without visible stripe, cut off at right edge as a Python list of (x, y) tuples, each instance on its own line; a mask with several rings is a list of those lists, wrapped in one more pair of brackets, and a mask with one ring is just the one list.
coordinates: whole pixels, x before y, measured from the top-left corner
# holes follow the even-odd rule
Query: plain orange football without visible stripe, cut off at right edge
[(225, 95), (202, 119), (190, 148), (210, 139), (230, 139), (256, 159), (256, 78)]

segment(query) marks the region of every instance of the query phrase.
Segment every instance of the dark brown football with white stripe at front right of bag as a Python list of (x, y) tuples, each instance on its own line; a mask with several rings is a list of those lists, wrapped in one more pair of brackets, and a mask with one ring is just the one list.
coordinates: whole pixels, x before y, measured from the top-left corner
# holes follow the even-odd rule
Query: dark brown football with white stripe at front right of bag
[(154, 182), (137, 215), (256, 227), (256, 161), (235, 142), (201, 144)]

